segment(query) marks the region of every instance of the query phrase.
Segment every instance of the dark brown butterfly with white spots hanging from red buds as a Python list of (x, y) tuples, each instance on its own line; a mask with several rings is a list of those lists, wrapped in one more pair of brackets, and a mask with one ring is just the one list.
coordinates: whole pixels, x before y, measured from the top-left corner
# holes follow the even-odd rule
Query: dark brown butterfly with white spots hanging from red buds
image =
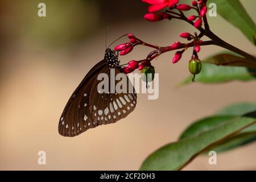
[[(99, 93), (97, 90), (101, 82), (97, 79), (98, 74), (106, 73), (110, 77), (112, 69), (115, 75), (122, 73), (119, 62), (118, 53), (106, 48), (104, 60), (90, 69), (69, 98), (59, 121), (60, 135), (75, 137), (88, 129), (115, 123), (134, 110), (137, 104), (137, 94), (134, 88), (132, 93), (129, 93), (128, 86), (126, 93)], [(128, 78), (127, 85), (131, 85)]]

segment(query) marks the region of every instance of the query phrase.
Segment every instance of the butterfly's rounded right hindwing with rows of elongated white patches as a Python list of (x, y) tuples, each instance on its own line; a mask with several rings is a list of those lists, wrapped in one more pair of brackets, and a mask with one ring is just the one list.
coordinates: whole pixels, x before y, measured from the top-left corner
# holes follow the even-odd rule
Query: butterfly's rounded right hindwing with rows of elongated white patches
[[(110, 69), (106, 70), (105, 73), (109, 77), (110, 84)], [(121, 73), (118, 67), (115, 68), (115, 77)], [(137, 104), (137, 94), (135, 89), (131, 84), (129, 78), (125, 73), (121, 73), (125, 77), (126, 84), (123, 85), (126, 92), (121, 93), (99, 93), (97, 86), (100, 81), (97, 81), (93, 84), (92, 90), (90, 93), (90, 112), (92, 115), (93, 125), (107, 125), (109, 123), (115, 123), (119, 119), (127, 117), (135, 108)], [(115, 85), (118, 84), (118, 80), (115, 80)], [(129, 86), (132, 87), (131, 93), (129, 93)]]

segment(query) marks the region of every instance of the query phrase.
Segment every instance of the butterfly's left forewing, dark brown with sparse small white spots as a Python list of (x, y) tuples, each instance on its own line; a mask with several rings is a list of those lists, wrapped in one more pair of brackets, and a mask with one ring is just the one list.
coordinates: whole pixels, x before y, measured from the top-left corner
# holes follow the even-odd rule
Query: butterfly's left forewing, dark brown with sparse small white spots
[(100, 73), (105, 66), (105, 60), (94, 65), (69, 98), (59, 121), (60, 135), (75, 137), (92, 127), (88, 124), (91, 121), (89, 110), (90, 89), (97, 80), (97, 73)]

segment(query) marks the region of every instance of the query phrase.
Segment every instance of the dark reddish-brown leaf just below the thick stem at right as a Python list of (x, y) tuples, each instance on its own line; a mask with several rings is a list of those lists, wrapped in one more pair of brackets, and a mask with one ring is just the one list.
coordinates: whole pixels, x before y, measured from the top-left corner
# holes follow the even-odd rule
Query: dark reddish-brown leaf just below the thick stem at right
[(216, 65), (256, 68), (256, 62), (247, 60), (243, 57), (232, 55), (229, 53), (221, 53), (212, 57), (208, 57), (203, 62)]

